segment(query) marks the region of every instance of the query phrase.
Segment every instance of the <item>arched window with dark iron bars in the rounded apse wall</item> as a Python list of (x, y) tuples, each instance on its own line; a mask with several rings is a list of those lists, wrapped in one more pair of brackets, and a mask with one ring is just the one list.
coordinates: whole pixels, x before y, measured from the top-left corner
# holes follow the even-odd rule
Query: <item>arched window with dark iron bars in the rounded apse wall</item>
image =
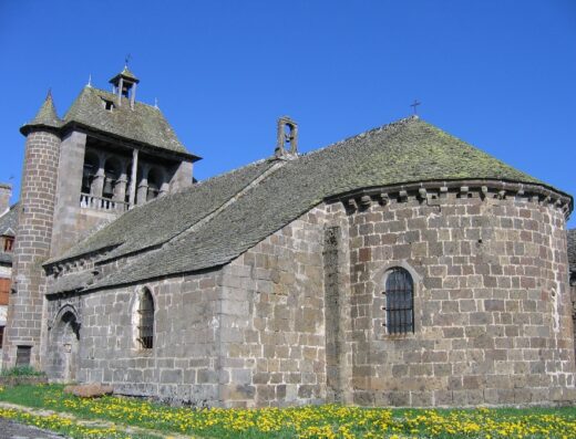
[(388, 334), (414, 332), (414, 282), (410, 273), (399, 266), (385, 275), (385, 328)]

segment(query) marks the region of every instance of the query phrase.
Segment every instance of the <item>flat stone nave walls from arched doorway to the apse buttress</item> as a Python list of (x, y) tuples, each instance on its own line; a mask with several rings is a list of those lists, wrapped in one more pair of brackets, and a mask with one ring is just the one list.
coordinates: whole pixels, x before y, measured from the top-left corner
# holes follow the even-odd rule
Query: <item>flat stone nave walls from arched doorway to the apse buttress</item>
[[(51, 294), (45, 369), (52, 378), (63, 375), (55, 328), (61, 310), (71, 309), (80, 323), (80, 381), (194, 405), (322, 401), (323, 239), (318, 208), (222, 270), (113, 291)], [(92, 270), (90, 261), (76, 262), (64, 274)], [(117, 263), (126, 261), (99, 271), (105, 275)], [(133, 318), (143, 288), (155, 302), (152, 349), (140, 348), (135, 339)]]

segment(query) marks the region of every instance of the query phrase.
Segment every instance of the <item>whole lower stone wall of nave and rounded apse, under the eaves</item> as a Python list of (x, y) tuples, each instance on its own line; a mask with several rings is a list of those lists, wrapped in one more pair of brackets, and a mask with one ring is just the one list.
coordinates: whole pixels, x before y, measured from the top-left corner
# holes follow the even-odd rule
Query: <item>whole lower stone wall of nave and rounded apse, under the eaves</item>
[[(366, 198), (352, 209), (319, 205), (210, 272), (51, 294), (49, 327), (75, 310), (81, 381), (197, 406), (575, 399), (563, 211), (534, 197), (455, 191)], [(415, 331), (403, 336), (383, 326), (393, 266), (414, 280)], [(152, 349), (135, 335), (143, 288), (155, 302)], [(51, 331), (48, 351), (61, 349)], [(47, 366), (58, 375), (58, 362)]]

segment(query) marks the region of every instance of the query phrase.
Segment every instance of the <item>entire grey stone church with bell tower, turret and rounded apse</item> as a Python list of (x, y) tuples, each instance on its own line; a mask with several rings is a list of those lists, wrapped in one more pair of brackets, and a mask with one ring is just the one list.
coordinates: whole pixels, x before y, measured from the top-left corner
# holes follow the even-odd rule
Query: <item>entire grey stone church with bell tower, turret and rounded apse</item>
[(576, 400), (569, 195), (415, 116), (308, 154), (281, 117), (196, 182), (110, 82), (20, 128), (4, 367), (194, 406)]

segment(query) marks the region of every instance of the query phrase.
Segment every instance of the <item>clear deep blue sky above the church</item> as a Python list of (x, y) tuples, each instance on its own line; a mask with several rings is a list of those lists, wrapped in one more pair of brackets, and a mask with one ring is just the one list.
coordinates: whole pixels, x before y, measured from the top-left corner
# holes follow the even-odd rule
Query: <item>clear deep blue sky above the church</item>
[(19, 188), (18, 128), (48, 88), (62, 116), (126, 53), (138, 98), (204, 157), (199, 179), (271, 155), (280, 115), (307, 151), (418, 98), (425, 121), (576, 195), (573, 0), (0, 0), (0, 181)]

